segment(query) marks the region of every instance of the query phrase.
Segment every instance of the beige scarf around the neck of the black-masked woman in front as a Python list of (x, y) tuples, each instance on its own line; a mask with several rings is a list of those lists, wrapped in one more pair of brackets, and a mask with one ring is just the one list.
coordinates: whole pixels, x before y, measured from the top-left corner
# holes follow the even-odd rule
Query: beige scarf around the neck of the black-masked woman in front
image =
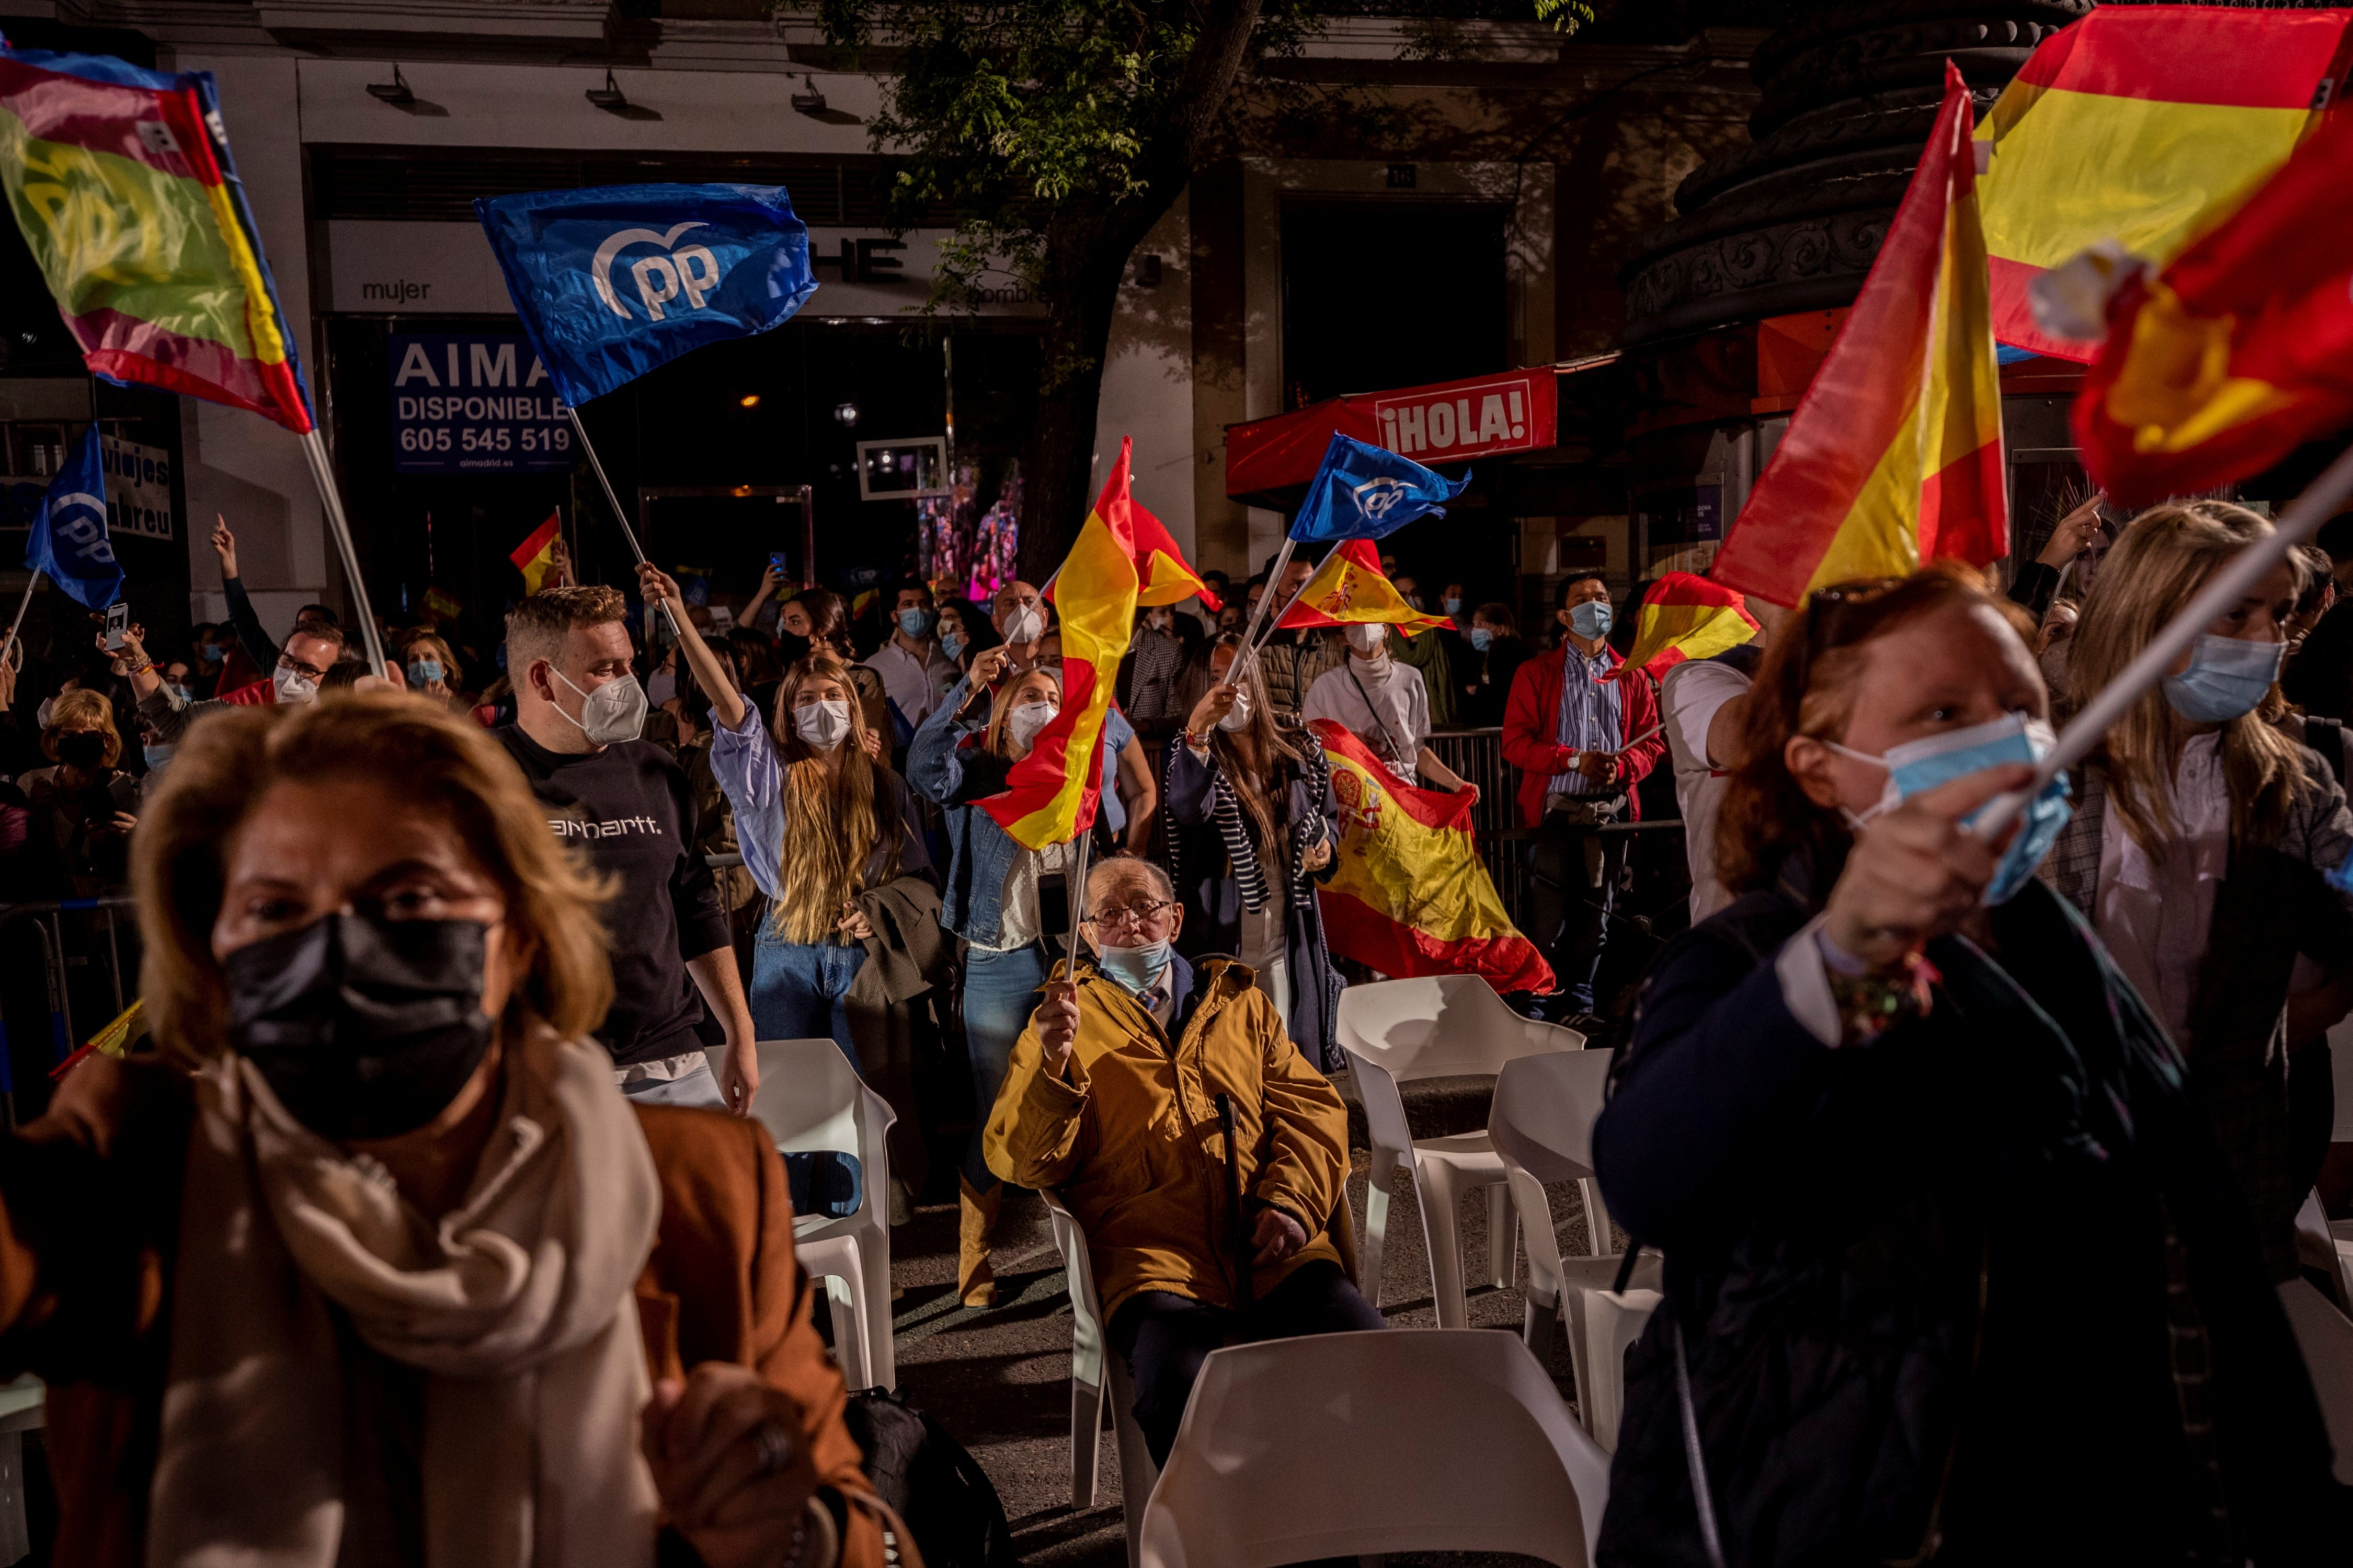
[(464, 1208), (433, 1224), (391, 1175), (315, 1137), (261, 1074), (198, 1078), (151, 1568), (334, 1568), (344, 1366), (332, 1309), (424, 1370), (428, 1568), (647, 1568), (654, 1483), (635, 1281), (661, 1184), (593, 1045), (506, 1055)]

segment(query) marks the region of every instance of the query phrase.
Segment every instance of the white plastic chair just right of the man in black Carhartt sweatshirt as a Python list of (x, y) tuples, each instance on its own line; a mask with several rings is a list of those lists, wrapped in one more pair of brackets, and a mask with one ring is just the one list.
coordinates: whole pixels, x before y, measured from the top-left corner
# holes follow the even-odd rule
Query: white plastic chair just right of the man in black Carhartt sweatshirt
[(889, 1128), (899, 1116), (859, 1081), (833, 1041), (760, 1041), (760, 1092), (751, 1114), (784, 1154), (838, 1149), (859, 1156), (859, 1210), (842, 1220), (793, 1220), (793, 1250), (826, 1281), (833, 1354), (852, 1389), (896, 1389), (889, 1311)]

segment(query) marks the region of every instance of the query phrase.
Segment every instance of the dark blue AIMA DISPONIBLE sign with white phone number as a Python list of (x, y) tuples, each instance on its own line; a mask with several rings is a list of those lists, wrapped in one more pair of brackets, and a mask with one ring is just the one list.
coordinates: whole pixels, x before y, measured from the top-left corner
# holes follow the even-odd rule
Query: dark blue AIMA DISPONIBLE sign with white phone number
[(569, 473), (572, 426), (520, 332), (395, 332), (393, 473)]

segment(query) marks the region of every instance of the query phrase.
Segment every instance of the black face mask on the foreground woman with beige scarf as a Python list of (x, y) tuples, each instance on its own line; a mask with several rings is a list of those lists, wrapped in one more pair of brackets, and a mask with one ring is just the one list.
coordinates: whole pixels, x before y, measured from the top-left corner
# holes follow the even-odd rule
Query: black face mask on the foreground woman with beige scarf
[(292, 1116), (329, 1140), (398, 1137), (456, 1099), (496, 1019), (482, 1012), (480, 921), (325, 921), (240, 946), (228, 1043)]

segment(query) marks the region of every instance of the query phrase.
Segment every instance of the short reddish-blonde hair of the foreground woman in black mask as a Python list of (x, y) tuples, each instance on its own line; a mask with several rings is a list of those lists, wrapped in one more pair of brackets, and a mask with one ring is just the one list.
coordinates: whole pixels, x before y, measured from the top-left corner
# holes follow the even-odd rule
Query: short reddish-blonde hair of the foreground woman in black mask
[(212, 956), (228, 845), (280, 782), (398, 779), (442, 812), (506, 895), (525, 954), (508, 1022), (544, 1019), (584, 1041), (612, 1003), (602, 878), (548, 831), (515, 760), (489, 730), (405, 692), (329, 692), (299, 706), (214, 713), (188, 730), (139, 812), (132, 892), (146, 958), (139, 989), (155, 1043), (186, 1067), (221, 1055), (228, 986)]

